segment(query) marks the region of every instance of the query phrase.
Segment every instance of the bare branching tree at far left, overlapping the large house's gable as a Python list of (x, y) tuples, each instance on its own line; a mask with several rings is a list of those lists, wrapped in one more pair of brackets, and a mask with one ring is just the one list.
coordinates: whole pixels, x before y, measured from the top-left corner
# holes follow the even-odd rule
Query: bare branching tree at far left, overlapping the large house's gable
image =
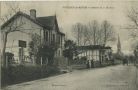
[[(9, 18), (12, 16), (12, 13), (16, 13), (19, 10), (18, 4), (7, 3), (7, 7), (9, 7), (9, 12), (7, 15), (5, 15), (5, 17), (1, 18), (3, 22), (8, 21)], [(16, 17), (13, 18), (13, 22), (10, 22), (6, 27), (1, 27), (2, 44), (3, 44), (1, 60), (3, 62), (3, 66), (6, 65), (5, 49), (6, 49), (8, 34), (11, 32), (20, 31), (20, 28), (25, 24), (25, 22), (22, 21), (22, 18), (20, 18), (20, 20), (18, 21), (15, 19)]]

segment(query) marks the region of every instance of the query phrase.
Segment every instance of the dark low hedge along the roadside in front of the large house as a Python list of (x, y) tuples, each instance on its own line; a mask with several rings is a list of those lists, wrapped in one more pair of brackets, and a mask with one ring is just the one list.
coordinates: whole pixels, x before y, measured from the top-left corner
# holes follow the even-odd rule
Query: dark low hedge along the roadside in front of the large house
[(59, 74), (56, 66), (10, 66), (1, 68), (2, 86), (36, 80), (51, 75)]

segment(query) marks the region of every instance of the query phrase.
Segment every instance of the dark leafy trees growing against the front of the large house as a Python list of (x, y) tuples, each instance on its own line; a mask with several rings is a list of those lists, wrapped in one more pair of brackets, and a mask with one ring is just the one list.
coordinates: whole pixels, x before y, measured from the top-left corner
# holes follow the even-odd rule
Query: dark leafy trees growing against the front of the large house
[[(55, 51), (58, 48), (58, 44), (52, 42), (49, 45), (41, 44), (41, 37), (38, 34), (32, 34), (32, 41), (29, 43), (29, 55), (34, 57), (34, 61), (37, 64), (41, 64), (41, 59), (43, 64), (52, 65), (54, 63)], [(33, 60), (33, 58), (32, 58)]]

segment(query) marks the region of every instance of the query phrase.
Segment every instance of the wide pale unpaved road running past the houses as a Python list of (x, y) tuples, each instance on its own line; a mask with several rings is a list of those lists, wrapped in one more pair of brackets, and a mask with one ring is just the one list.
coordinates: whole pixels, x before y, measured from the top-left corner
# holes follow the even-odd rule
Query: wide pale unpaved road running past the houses
[(76, 70), (58, 76), (11, 85), (4, 90), (138, 90), (133, 65)]

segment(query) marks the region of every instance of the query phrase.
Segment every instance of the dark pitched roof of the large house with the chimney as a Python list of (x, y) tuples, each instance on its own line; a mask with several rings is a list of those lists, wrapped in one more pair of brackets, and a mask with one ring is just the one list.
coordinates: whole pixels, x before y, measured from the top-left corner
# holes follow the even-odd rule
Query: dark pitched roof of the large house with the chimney
[[(10, 22), (12, 22), (15, 18), (17, 18), (18, 16), (24, 16), (26, 18), (28, 18), (29, 20), (31, 20), (32, 22), (42, 26), (45, 29), (48, 30), (52, 30), (55, 22), (57, 22), (56, 16), (47, 16), (47, 17), (36, 17), (36, 19), (32, 19), (29, 15), (27, 15), (26, 13), (23, 13), (21, 11), (17, 12), (13, 17), (11, 17), (9, 20), (7, 20), (2, 26), (1, 29), (3, 29), (4, 27), (6, 27)], [(64, 33), (59, 31), (58, 26), (56, 27), (58, 30), (58, 33), (65, 35)]]

